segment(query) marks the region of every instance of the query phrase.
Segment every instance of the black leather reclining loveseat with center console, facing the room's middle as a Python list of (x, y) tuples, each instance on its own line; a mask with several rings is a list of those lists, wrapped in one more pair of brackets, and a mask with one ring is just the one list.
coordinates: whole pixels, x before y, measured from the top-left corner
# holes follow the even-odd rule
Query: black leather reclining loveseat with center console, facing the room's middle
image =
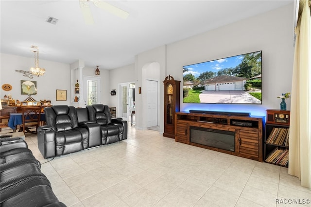
[(107, 105), (56, 105), (44, 110), (46, 125), (37, 129), (38, 148), (44, 158), (127, 139), (127, 121), (112, 119)]

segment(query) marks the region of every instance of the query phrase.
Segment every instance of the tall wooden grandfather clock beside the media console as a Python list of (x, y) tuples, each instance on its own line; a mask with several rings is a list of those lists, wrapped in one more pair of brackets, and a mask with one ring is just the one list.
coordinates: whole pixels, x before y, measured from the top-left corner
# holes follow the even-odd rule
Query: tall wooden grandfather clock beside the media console
[(174, 117), (175, 112), (179, 111), (180, 101), (180, 81), (175, 81), (169, 75), (164, 83), (164, 137), (175, 138)]

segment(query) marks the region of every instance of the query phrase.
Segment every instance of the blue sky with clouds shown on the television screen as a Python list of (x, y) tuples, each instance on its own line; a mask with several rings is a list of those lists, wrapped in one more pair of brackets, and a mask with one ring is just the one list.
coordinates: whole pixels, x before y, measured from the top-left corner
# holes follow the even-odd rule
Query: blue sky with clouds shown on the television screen
[(237, 55), (227, 58), (222, 58), (218, 60), (212, 60), (203, 63), (197, 63), (189, 66), (184, 66), (184, 68), (189, 69), (189, 71), (184, 72), (183, 75), (187, 75), (192, 73), (194, 77), (199, 77), (199, 75), (206, 71), (213, 71), (217, 72), (220, 69), (227, 69), (227, 68), (235, 68), (238, 66), (243, 60), (243, 55)]

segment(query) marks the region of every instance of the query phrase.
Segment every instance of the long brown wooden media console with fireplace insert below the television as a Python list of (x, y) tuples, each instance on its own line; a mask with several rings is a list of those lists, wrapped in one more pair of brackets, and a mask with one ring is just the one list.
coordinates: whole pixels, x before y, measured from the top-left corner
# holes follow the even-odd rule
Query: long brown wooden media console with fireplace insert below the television
[(265, 117), (176, 112), (175, 141), (262, 162)]

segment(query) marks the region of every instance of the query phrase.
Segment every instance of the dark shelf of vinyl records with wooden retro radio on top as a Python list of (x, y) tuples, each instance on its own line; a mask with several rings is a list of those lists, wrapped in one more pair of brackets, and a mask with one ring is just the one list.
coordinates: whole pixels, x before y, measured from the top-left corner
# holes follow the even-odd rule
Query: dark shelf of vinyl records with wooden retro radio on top
[(265, 127), (264, 161), (288, 167), (289, 110), (267, 109)]

